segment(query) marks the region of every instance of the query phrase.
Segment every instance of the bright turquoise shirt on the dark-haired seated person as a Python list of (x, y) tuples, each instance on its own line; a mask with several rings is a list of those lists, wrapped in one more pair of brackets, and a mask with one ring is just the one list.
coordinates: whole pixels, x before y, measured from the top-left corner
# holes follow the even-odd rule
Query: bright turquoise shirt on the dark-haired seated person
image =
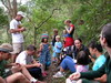
[(105, 60), (107, 60), (107, 59), (105, 59), (104, 55), (100, 55), (100, 56), (95, 60), (92, 70), (93, 70), (93, 71), (97, 71), (99, 68), (102, 66), (102, 64), (104, 64)]

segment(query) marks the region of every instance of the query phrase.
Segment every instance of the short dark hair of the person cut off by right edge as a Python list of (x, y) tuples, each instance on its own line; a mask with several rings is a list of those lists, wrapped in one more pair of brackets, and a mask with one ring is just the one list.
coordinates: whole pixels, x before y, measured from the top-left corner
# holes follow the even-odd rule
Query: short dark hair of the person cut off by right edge
[(103, 27), (102, 37), (105, 38), (108, 46), (111, 48), (111, 23)]

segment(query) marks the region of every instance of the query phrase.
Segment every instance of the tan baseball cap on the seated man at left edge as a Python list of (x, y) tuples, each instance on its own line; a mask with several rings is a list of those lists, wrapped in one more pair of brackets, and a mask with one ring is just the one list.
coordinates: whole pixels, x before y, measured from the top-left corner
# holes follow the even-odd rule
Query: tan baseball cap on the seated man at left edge
[(13, 51), (12, 45), (9, 44), (9, 43), (2, 43), (0, 45), (0, 51), (13, 54), (13, 52), (12, 52)]

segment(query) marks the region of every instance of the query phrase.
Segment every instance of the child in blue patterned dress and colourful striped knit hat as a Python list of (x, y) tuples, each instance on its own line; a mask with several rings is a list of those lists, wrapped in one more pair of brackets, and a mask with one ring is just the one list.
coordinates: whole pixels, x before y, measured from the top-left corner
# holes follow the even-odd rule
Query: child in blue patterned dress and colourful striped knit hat
[(51, 64), (51, 55), (50, 55), (50, 44), (48, 43), (48, 34), (42, 34), (42, 41), (40, 44), (40, 63), (43, 64), (44, 70)]

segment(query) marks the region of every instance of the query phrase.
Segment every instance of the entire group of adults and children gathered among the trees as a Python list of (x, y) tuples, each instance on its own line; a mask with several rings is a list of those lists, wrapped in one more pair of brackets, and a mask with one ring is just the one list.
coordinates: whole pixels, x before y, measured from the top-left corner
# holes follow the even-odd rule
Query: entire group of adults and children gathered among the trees
[[(26, 28), (20, 22), (23, 17), (23, 12), (19, 11), (10, 22), (12, 45), (9, 43), (0, 45), (0, 83), (46, 83), (42, 80), (48, 75), (46, 71), (51, 64), (57, 64), (56, 68), (59, 70), (52, 75), (53, 79), (65, 76), (67, 70), (71, 72), (65, 83), (111, 82), (111, 23), (103, 27), (100, 43), (91, 41), (85, 46), (81, 39), (73, 39), (74, 25), (70, 20), (65, 20), (63, 35), (59, 35), (58, 29), (53, 29), (51, 44), (49, 35), (43, 33), (38, 50), (32, 44), (24, 50), (22, 32)], [(103, 54), (103, 48), (108, 52), (107, 55)], [(93, 63), (92, 71), (89, 69), (90, 63)]]

